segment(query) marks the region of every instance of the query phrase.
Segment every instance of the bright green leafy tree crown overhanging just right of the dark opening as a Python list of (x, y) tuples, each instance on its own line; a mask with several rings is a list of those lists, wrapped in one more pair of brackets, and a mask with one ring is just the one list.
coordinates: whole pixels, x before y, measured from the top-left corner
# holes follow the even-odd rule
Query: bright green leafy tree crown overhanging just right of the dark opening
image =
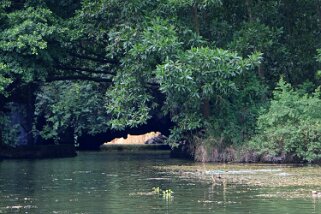
[[(177, 124), (175, 131), (211, 127), (210, 121), (219, 115), (220, 107), (225, 109), (221, 104), (238, 90), (235, 79), (259, 65), (260, 60), (259, 53), (243, 59), (222, 49), (192, 48), (178, 55), (175, 61), (168, 59), (158, 66), (156, 77), (166, 97), (164, 110)], [(205, 101), (215, 111), (204, 109)]]

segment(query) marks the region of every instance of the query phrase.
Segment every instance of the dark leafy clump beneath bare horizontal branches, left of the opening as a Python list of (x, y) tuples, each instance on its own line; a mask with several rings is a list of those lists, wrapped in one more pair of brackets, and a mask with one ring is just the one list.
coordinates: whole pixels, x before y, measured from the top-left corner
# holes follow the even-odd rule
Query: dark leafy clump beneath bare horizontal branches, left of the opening
[(73, 137), (106, 131), (109, 126), (103, 95), (98, 84), (44, 85), (37, 94), (35, 109), (37, 119), (46, 121), (40, 136), (59, 141), (66, 131)]

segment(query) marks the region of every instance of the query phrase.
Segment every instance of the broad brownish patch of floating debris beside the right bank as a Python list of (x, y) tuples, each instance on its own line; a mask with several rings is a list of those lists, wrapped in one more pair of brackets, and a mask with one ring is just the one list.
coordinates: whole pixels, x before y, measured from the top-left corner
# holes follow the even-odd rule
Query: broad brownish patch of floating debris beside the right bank
[(213, 185), (221, 185), (225, 182), (259, 187), (306, 187), (306, 192), (310, 191), (310, 197), (311, 187), (321, 186), (321, 167), (319, 166), (195, 163), (155, 168), (171, 176), (176, 175), (179, 179)]

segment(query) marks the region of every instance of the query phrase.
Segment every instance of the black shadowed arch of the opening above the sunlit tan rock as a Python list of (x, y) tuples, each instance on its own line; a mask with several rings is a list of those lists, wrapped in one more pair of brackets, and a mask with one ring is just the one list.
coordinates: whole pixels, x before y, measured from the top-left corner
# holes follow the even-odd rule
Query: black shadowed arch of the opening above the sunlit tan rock
[(146, 124), (136, 128), (126, 128), (122, 131), (109, 130), (96, 135), (84, 134), (78, 138), (79, 150), (98, 150), (103, 143), (115, 138), (126, 138), (127, 134), (141, 135), (148, 132), (160, 132), (168, 136), (173, 125), (169, 117), (153, 117)]

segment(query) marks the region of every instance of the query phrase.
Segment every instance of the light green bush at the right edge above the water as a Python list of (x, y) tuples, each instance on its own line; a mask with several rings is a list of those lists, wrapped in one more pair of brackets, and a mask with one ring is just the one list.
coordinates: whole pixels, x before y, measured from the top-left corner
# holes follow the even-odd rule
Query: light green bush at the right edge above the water
[(320, 88), (302, 94), (281, 79), (269, 109), (258, 118), (250, 146), (260, 153), (290, 154), (306, 161), (321, 158)]

